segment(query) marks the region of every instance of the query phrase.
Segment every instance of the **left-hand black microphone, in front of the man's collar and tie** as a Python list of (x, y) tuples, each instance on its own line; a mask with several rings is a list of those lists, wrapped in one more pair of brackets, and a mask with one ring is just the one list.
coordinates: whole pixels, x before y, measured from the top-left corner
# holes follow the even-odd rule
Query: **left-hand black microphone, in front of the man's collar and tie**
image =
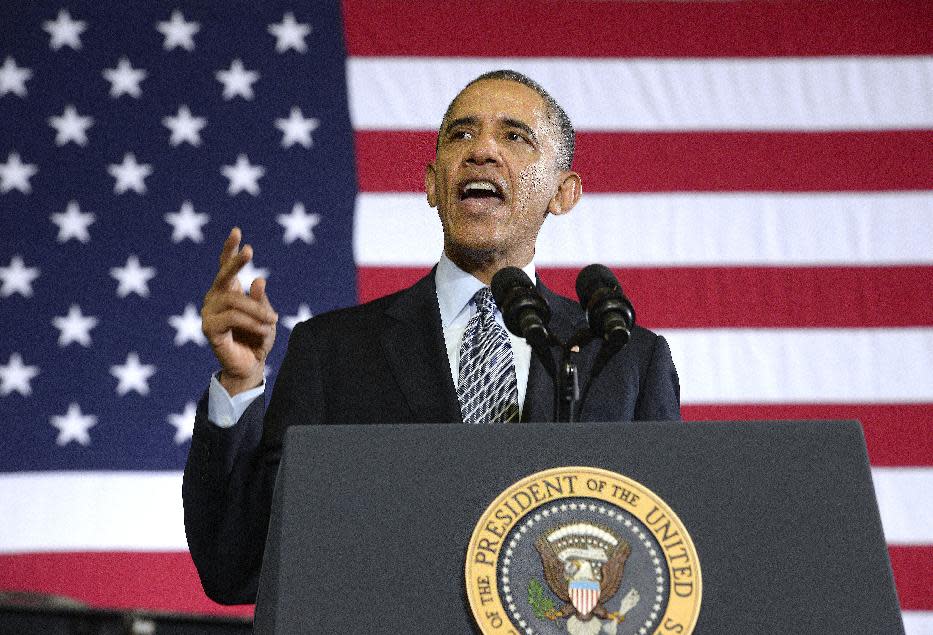
[(492, 277), (490, 287), (506, 328), (528, 340), (532, 348), (546, 350), (551, 309), (531, 278), (518, 267), (505, 267)]

